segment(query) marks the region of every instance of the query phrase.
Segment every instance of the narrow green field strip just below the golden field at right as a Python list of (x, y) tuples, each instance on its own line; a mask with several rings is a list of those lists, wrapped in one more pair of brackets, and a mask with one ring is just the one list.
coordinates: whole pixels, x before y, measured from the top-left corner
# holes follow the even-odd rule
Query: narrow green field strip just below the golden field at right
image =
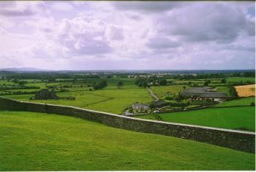
[(255, 97), (240, 98), (238, 100), (226, 101), (217, 104), (215, 107), (225, 107), (225, 106), (249, 106), (250, 103), (255, 102)]

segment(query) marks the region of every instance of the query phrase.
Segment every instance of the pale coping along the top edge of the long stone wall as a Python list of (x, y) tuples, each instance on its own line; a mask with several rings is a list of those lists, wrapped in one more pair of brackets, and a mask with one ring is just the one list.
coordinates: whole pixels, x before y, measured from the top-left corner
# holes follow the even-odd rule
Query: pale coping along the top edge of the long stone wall
[[(1, 97), (1, 98), (7, 99), (7, 100), (14, 100), (14, 99), (6, 98), (6, 97)], [(35, 103), (35, 102), (27, 102), (27, 101), (20, 101), (20, 100), (14, 100), (14, 101), (21, 102), (21, 103), (33, 103), (33, 104), (45, 105), (45, 103)], [(79, 108), (79, 107), (76, 107), (76, 106), (64, 106), (64, 105), (56, 105), (56, 104), (50, 104), (50, 103), (46, 103), (46, 105), (68, 107), (68, 108), (73, 108), (73, 109), (90, 111), (90, 112), (93, 112), (93, 113), (108, 114), (108, 115), (111, 115), (111, 116), (114, 116), (114, 117), (122, 117), (122, 118), (131, 119), (131, 120), (138, 120), (138, 121), (147, 121), (147, 122), (150, 122), (150, 123), (163, 123), (163, 124), (169, 124), (169, 125), (180, 125), (180, 126), (188, 126), (188, 127), (193, 127), (193, 128), (203, 128), (203, 129), (209, 129), (209, 130), (215, 130), (215, 131), (226, 131), (226, 132), (232, 132), (232, 133), (237, 133), (237, 134), (255, 135), (255, 132), (250, 132), (250, 131), (237, 131), (237, 130), (232, 130), (232, 129), (214, 128), (214, 127), (206, 127), (206, 126), (200, 126), (200, 125), (191, 125), (191, 124), (183, 124), (183, 123), (170, 123), (170, 122), (157, 121), (157, 120), (146, 120), (146, 119), (135, 118), (135, 117), (126, 117), (126, 116), (119, 115), (119, 114), (111, 114), (111, 113), (104, 112), (104, 111), (94, 111), (94, 110), (91, 110), (91, 109), (83, 109), (83, 108)]]

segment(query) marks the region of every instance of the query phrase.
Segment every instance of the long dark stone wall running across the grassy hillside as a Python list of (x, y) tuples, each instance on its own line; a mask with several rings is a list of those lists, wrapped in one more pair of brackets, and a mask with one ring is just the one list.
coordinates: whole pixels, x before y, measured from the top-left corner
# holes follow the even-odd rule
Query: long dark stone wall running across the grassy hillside
[(120, 116), (117, 114), (109, 114), (101, 111), (81, 109), (73, 106), (28, 103), (10, 100), (4, 97), (0, 97), (0, 110), (35, 111), (80, 117), (86, 120), (104, 123), (105, 125), (115, 128), (206, 142), (212, 145), (219, 145), (255, 154), (255, 133), (252, 132), (143, 120)]

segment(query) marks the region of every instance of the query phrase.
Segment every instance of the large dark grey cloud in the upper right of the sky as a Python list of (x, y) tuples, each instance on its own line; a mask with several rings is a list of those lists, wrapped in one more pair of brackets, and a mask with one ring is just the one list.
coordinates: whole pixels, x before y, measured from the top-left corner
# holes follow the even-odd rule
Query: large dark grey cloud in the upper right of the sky
[(186, 41), (234, 41), (242, 30), (252, 33), (243, 11), (233, 4), (194, 4), (160, 19), (160, 32), (180, 35)]

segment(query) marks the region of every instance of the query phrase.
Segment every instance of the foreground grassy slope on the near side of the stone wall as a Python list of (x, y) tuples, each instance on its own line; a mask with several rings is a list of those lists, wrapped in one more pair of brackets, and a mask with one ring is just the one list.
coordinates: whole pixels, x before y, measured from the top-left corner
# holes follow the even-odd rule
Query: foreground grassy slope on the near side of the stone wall
[(255, 169), (255, 154), (75, 117), (0, 111), (0, 121), (0, 171)]

